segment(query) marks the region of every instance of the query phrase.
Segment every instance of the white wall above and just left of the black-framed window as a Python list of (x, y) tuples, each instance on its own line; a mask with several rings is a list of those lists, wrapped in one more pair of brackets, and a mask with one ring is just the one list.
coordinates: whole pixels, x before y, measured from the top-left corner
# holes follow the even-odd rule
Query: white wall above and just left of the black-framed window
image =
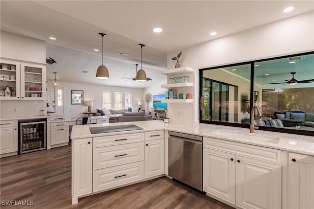
[[(180, 58), (181, 66), (202, 69), (313, 51), (313, 16), (314, 12), (309, 12), (183, 48), (183, 55)], [(167, 53), (168, 69), (174, 68), (175, 61), (171, 58), (177, 54), (178, 50)], [(198, 89), (198, 79), (195, 80), (197, 81), (195, 87)], [(192, 121), (198, 117), (188, 114), (192, 111), (191, 108), (194, 108), (195, 114), (198, 114), (198, 100), (199, 98), (195, 99), (196, 102), (194, 102), (193, 107), (190, 107), (190, 105), (177, 107), (177, 111), (182, 111), (185, 114), (184, 122)]]

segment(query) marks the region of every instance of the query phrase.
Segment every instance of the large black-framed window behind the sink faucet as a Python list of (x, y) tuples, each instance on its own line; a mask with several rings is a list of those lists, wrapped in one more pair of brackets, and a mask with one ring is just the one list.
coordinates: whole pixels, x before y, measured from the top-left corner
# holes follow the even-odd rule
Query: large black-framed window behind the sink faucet
[(307, 52), (201, 69), (200, 122), (249, 127), (258, 106), (260, 129), (313, 136), (313, 63), (314, 52)]

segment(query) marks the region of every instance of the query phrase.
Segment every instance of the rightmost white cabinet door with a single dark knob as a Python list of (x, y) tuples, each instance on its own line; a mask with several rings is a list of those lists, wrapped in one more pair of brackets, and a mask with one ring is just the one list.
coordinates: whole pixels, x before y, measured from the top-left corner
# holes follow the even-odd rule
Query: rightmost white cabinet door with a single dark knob
[(289, 153), (288, 208), (314, 209), (314, 157)]

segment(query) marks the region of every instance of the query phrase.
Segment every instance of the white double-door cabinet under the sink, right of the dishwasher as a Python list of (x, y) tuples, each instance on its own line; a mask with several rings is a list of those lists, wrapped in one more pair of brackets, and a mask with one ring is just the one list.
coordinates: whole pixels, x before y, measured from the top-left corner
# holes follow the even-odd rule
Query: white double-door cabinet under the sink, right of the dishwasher
[(211, 138), (203, 145), (204, 191), (240, 208), (281, 207), (279, 150)]

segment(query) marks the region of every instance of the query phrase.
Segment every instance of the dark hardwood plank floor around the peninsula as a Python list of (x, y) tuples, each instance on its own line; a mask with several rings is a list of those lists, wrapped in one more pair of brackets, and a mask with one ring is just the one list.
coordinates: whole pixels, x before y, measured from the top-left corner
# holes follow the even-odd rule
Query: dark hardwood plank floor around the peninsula
[(232, 209), (167, 177), (80, 198), (72, 205), (71, 145), (0, 159), (0, 191), (1, 209)]

